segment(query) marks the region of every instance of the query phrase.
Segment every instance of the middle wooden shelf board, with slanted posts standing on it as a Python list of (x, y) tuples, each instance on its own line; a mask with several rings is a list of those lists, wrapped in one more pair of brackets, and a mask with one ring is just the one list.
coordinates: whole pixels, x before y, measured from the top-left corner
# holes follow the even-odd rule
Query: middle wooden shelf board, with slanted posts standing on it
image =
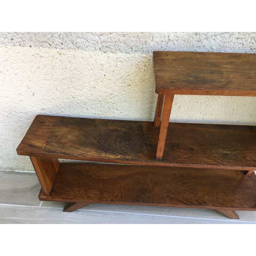
[(19, 155), (64, 159), (256, 170), (256, 126), (169, 123), (164, 157), (155, 160), (153, 122), (38, 115)]

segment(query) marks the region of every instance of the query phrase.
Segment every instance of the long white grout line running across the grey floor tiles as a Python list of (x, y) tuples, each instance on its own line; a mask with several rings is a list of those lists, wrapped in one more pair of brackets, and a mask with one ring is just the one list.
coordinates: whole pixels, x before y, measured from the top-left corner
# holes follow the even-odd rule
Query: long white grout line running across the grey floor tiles
[[(42, 203), (42, 201), (41, 201)], [(46, 208), (46, 209), (63, 209), (59, 207), (46, 207), (46, 206), (32, 206), (32, 205), (21, 205), (21, 204), (2, 204), (0, 205), (9, 205), (9, 206), (21, 206), (21, 207), (34, 207), (34, 208)], [(41, 204), (40, 204), (41, 205)], [(135, 213), (135, 212), (114, 212), (114, 211), (100, 211), (100, 210), (86, 210), (86, 209), (77, 209), (76, 211), (87, 211), (87, 212), (107, 212), (107, 213), (121, 213), (121, 214), (134, 214), (134, 215), (146, 215), (146, 216), (156, 216), (156, 217), (169, 217), (169, 218), (180, 218), (180, 219), (191, 219), (191, 220), (213, 220), (213, 221), (226, 221), (226, 222), (237, 222), (237, 223), (254, 223), (256, 221), (245, 221), (245, 220), (218, 220), (218, 219), (202, 219), (202, 218), (191, 218), (191, 217), (181, 217), (181, 216), (172, 216), (172, 215), (159, 215), (159, 214), (147, 214), (147, 213)]]

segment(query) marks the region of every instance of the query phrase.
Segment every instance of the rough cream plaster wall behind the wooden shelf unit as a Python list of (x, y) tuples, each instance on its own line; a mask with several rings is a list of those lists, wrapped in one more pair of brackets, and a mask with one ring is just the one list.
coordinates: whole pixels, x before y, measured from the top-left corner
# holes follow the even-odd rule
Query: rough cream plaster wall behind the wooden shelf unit
[[(153, 121), (155, 50), (256, 53), (256, 33), (0, 33), (0, 169), (33, 170), (16, 148), (37, 114)], [(255, 108), (175, 95), (170, 121), (256, 125)]]

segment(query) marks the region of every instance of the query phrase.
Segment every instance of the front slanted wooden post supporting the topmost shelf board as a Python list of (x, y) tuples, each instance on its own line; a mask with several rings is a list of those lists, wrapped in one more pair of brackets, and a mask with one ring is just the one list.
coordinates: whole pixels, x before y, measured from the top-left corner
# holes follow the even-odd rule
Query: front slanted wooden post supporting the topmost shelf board
[(165, 94), (164, 99), (164, 109), (162, 115), (162, 121), (160, 124), (159, 137), (157, 142), (156, 149), (156, 159), (162, 160), (164, 153), (164, 144), (166, 139), (166, 133), (168, 130), (169, 119), (172, 110), (172, 102), (173, 102), (174, 94)]

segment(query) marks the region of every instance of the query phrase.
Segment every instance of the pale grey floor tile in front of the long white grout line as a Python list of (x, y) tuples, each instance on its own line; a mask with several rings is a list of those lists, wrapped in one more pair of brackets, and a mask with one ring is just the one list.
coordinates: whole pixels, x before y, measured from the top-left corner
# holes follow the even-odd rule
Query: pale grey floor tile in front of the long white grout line
[(234, 224), (243, 222), (0, 205), (0, 224)]

